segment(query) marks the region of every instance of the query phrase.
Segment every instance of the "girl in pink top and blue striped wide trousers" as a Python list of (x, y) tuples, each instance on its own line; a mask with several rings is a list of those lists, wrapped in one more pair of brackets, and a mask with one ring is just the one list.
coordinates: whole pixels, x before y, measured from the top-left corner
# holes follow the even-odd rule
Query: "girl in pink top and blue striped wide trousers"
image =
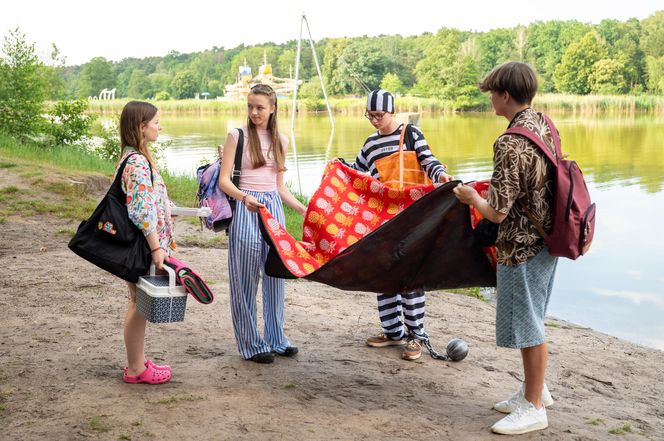
[[(268, 85), (258, 84), (247, 96), (247, 125), (239, 188), (231, 180), (238, 130), (228, 133), (219, 174), (219, 187), (238, 201), (228, 237), (228, 272), (231, 287), (233, 330), (240, 355), (257, 363), (272, 363), (274, 354), (297, 354), (284, 333), (283, 279), (262, 274), (268, 253), (258, 224), (258, 210), (266, 207), (285, 223), (283, 203), (306, 213), (284, 184), (288, 138), (277, 128), (277, 95)], [(261, 279), (262, 275), (262, 279)], [(261, 279), (263, 336), (258, 330), (256, 295)]]

